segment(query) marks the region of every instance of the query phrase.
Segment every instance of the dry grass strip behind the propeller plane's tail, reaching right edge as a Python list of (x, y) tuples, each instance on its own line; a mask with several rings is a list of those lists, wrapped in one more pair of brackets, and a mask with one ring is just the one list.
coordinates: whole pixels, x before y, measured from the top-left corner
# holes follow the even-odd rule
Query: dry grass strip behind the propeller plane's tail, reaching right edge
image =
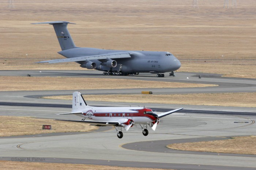
[[(72, 96), (49, 96), (49, 99), (72, 100)], [(108, 94), (86, 95), (90, 101), (192, 104), (211, 106), (256, 107), (256, 93), (220, 93), (220, 94)], [(243, 100), (241, 100), (241, 98)]]

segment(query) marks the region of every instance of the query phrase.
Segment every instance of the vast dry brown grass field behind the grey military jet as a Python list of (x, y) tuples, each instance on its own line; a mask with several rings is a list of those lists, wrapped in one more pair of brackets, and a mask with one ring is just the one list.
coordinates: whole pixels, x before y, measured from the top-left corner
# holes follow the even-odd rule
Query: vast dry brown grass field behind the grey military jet
[(34, 22), (67, 20), (76, 46), (117, 50), (170, 51), (181, 72), (256, 77), (256, 1), (223, 0), (15, 0), (0, 2), (0, 70), (82, 69), (76, 63), (34, 64), (63, 58), (52, 26)]

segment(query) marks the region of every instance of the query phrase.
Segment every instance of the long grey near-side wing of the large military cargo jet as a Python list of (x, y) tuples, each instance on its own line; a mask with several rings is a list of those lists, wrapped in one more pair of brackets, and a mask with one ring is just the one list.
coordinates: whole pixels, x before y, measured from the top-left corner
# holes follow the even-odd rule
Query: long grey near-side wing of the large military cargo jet
[(101, 55), (89, 55), (89, 56), (83, 56), (83, 57), (39, 61), (39, 62), (35, 62), (35, 63), (61, 63), (61, 62), (86, 61), (86, 60), (94, 60), (94, 59), (97, 59), (97, 60), (116, 59), (116, 58), (131, 58), (131, 53), (122, 52), (122, 53), (109, 53), (109, 54), (101, 54)]

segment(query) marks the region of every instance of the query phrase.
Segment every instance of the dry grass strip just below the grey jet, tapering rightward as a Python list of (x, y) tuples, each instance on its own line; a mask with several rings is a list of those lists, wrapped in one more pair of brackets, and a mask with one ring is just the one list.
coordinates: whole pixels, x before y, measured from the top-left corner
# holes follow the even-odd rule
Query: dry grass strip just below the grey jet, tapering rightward
[[(0, 91), (123, 88), (189, 88), (217, 86), (211, 84), (192, 84), (178, 82), (159, 83), (158, 81), (76, 77), (0, 76), (0, 80), (2, 80), (0, 83)], [(127, 81), (129, 81), (129, 83), (127, 83)]]

